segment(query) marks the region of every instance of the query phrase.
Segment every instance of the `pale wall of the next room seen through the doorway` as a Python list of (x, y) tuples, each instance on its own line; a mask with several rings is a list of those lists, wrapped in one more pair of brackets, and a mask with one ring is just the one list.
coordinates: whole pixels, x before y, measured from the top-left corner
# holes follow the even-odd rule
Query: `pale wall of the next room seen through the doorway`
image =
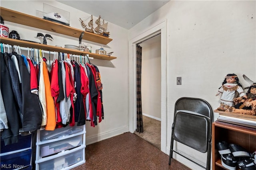
[(142, 112), (161, 120), (161, 36), (140, 44), (142, 47)]

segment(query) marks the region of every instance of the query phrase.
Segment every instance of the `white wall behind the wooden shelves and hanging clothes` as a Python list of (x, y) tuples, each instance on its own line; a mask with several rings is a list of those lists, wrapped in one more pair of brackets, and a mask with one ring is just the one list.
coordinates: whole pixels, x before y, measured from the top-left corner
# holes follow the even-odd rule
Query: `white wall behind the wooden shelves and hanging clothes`
[[(36, 16), (36, 10), (43, 11), (43, 3), (56, 6), (70, 12), (70, 26), (77, 29), (83, 29), (80, 25), (79, 17), (90, 15), (52, 0), (1, 0), (0, 3), (4, 8), (32, 16)], [(96, 19), (95, 16), (94, 19)], [(65, 44), (78, 44), (78, 39), (66, 35), (10, 23), (8, 21), (5, 21), (4, 24), (9, 27), (10, 31), (18, 31), (21, 39), (40, 42), (40, 40), (35, 37), (38, 32), (41, 32), (44, 34), (49, 33), (54, 38), (54, 41), (48, 41), (48, 45), (61, 45), (64, 47)], [(110, 38), (113, 39), (113, 41), (103, 47), (106, 51), (114, 51), (112, 56), (117, 57), (117, 59), (112, 61), (100, 59), (91, 60), (91, 63), (98, 66), (102, 78), (105, 118), (101, 123), (98, 123), (96, 127), (90, 127), (90, 122), (86, 122), (87, 145), (128, 131), (128, 30), (112, 23), (109, 23), (108, 26)], [(90, 43), (93, 52), (100, 48), (100, 44), (98, 43), (85, 40), (82, 40), (82, 42), (86, 44)], [(27, 52), (24, 54), (26, 55)]]

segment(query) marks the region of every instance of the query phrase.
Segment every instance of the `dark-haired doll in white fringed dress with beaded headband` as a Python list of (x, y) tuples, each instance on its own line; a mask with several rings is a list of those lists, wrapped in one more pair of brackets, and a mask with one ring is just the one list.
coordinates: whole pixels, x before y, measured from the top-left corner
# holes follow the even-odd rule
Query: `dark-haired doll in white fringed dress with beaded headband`
[(242, 85), (239, 83), (239, 79), (236, 74), (227, 74), (226, 78), (222, 82), (222, 86), (219, 88), (216, 96), (221, 94), (220, 107), (217, 110), (229, 111), (234, 106), (234, 98), (237, 97), (237, 93), (242, 98), (247, 98)]

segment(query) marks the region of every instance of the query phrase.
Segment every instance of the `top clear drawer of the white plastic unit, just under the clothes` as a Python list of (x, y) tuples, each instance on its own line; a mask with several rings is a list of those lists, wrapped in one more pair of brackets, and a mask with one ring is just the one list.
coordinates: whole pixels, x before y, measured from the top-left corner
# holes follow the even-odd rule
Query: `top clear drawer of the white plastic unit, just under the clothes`
[(42, 130), (40, 131), (40, 141), (46, 141), (50, 139), (72, 135), (74, 133), (83, 131), (83, 127), (84, 126), (76, 126), (76, 125), (71, 127), (70, 125), (68, 125), (67, 127), (57, 128), (54, 131)]

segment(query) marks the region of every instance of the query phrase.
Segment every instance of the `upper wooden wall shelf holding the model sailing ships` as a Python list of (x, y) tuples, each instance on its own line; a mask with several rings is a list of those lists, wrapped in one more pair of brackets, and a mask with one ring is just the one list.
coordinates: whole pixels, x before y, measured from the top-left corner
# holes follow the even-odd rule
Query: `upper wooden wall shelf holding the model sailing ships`
[(112, 39), (108, 37), (104, 37), (95, 33), (90, 33), (87, 31), (83, 31), (80, 29), (72, 28), (67, 25), (63, 25), (60, 23), (56, 23), (53, 21), (44, 20), (42, 18), (38, 18), (35, 16), (30, 16), (28, 14), (24, 14), (21, 12), (17, 12), (14, 10), (10, 10), (7, 8), (0, 7), (1, 16), (5, 21), (10, 21), (14, 23), (19, 23), (22, 25), (27, 25), (30, 27), (35, 27), (39, 29), (44, 29), (47, 31), (52, 31), (56, 33), (60, 33), (63, 35), (68, 35), (71, 37), (79, 38), (81, 33), (84, 32), (84, 36), (82, 39), (100, 43), (100, 44), (108, 44)]

